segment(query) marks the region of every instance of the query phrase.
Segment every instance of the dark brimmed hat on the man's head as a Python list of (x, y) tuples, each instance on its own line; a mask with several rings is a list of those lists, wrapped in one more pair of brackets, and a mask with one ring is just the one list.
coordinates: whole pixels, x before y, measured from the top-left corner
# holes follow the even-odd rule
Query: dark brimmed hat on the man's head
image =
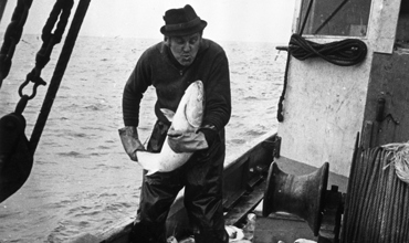
[(189, 35), (202, 31), (208, 23), (201, 20), (191, 6), (182, 9), (170, 9), (164, 15), (165, 25), (160, 32), (166, 36)]

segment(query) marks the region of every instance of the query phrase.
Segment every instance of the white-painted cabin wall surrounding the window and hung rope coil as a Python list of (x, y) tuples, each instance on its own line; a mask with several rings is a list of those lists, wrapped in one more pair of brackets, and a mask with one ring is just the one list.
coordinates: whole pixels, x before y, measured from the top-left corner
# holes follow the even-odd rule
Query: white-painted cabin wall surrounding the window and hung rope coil
[[(293, 32), (300, 23), (301, 0), (295, 2)], [(401, 0), (373, 0), (368, 21), (368, 54), (359, 65), (343, 67), (321, 59), (298, 61), (291, 57), (284, 122), (279, 124), (281, 155), (285, 158), (321, 167), (329, 162), (332, 172), (349, 175), (357, 133), (367, 133), (365, 116), (374, 53), (394, 52)], [(407, 8), (402, 8), (403, 10)], [(405, 14), (408, 11), (403, 11)], [(402, 15), (402, 12), (401, 12)], [(407, 39), (407, 19), (400, 18), (398, 39)], [(306, 36), (310, 41), (328, 43), (339, 36)], [(343, 38), (345, 39), (345, 38)], [(371, 84), (374, 85), (374, 83)], [(375, 91), (376, 92), (376, 91)], [(365, 116), (364, 116), (365, 115)], [(363, 126), (364, 124), (364, 126)]]

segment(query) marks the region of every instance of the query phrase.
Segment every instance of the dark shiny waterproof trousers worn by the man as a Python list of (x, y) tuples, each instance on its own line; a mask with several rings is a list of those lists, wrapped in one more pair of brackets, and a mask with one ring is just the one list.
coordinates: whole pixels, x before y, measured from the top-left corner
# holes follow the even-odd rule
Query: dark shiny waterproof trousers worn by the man
[[(153, 138), (164, 134), (162, 129), (167, 130), (167, 126), (157, 123)], [(149, 144), (159, 144), (161, 148), (162, 141)], [(170, 205), (183, 187), (185, 208), (190, 224), (196, 229), (195, 241), (228, 242), (222, 207), (224, 151), (224, 142), (219, 139), (211, 148), (195, 152), (188, 162), (174, 171), (144, 175), (138, 219), (133, 229), (133, 237), (137, 241), (134, 242), (165, 242)]]

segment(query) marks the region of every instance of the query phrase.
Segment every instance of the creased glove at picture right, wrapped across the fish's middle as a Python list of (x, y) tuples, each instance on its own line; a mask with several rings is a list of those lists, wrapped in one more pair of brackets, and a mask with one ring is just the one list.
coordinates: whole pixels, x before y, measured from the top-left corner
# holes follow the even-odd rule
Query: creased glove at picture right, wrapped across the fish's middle
[(209, 148), (203, 133), (182, 133), (172, 127), (168, 130), (168, 145), (175, 152), (193, 152)]

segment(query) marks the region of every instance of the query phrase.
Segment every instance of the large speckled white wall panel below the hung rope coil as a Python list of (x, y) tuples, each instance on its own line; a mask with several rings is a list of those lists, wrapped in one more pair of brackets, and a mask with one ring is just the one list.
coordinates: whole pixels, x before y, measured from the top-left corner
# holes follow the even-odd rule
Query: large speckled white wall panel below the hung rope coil
[(321, 59), (291, 59), (279, 124), (281, 156), (314, 167), (329, 162), (331, 171), (349, 175), (356, 135), (361, 130), (371, 52), (355, 66)]

